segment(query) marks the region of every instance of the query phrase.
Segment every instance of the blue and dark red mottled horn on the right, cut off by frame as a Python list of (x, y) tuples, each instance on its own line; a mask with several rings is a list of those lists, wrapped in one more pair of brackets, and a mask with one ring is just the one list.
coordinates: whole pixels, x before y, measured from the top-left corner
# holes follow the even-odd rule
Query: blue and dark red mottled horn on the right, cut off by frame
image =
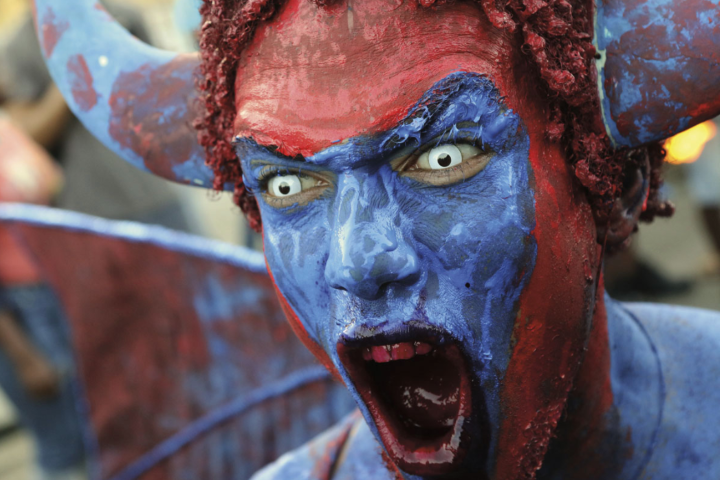
[(596, 0), (603, 117), (618, 146), (720, 114), (720, 0)]

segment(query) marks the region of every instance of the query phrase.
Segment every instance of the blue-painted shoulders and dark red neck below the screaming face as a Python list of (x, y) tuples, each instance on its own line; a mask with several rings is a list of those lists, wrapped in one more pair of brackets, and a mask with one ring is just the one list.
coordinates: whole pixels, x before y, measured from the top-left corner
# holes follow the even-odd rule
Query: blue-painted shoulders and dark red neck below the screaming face
[[(720, 315), (607, 296), (597, 307), (588, 357), (536, 478), (716, 478)], [(336, 462), (331, 473), (328, 461)], [(367, 425), (346, 421), (253, 479), (382, 480), (395, 473)]]

